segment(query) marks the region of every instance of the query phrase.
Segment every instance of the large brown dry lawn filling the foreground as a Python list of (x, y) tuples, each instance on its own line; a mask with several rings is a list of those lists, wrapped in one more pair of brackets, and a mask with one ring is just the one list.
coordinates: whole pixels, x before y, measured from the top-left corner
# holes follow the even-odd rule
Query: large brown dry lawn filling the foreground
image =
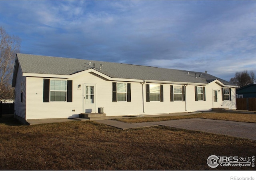
[(210, 155), (252, 156), (253, 140), (168, 127), (119, 130), (96, 122), (18, 126), (0, 119), (0, 170), (254, 170), (209, 168)]

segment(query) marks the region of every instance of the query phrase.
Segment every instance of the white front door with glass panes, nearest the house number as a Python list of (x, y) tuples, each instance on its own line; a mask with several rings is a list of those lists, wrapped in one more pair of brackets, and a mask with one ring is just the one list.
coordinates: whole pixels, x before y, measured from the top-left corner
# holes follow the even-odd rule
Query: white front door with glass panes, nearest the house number
[(96, 112), (96, 84), (84, 84), (84, 112)]

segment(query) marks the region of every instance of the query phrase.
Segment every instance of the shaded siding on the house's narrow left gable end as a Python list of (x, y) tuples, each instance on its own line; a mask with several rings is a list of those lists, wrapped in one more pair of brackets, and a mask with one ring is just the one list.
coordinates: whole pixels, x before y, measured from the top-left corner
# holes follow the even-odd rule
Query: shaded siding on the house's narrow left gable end
[[(23, 84), (23, 100), (21, 102), (21, 84)], [(18, 68), (15, 84), (15, 104), (14, 114), (26, 119), (26, 77), (22, 76), (20, 67)]]

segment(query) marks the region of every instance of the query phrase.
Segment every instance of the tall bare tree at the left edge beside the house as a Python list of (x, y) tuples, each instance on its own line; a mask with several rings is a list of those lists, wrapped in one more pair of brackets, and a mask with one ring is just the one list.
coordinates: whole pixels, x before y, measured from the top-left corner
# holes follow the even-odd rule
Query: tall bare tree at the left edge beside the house
[(16, 53), (20, 50), (21, 40), (10, 36), (0, 27), (0, 100), (13, 96), (11, 80)]

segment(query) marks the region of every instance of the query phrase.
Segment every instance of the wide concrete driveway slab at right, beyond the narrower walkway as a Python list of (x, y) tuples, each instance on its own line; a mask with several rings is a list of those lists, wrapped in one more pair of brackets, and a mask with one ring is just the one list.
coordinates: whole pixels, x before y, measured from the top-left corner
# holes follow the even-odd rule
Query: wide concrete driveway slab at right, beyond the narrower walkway
[(196, 130), (202, 132), (210, 132), (213, 134), (224, 134), (238, 138), (248, 138), (256, 140), (256, 123), (235, 122), (212, 119), (181, 119), (160, 122), (150, 122), (161, 126), (172, 128)]

